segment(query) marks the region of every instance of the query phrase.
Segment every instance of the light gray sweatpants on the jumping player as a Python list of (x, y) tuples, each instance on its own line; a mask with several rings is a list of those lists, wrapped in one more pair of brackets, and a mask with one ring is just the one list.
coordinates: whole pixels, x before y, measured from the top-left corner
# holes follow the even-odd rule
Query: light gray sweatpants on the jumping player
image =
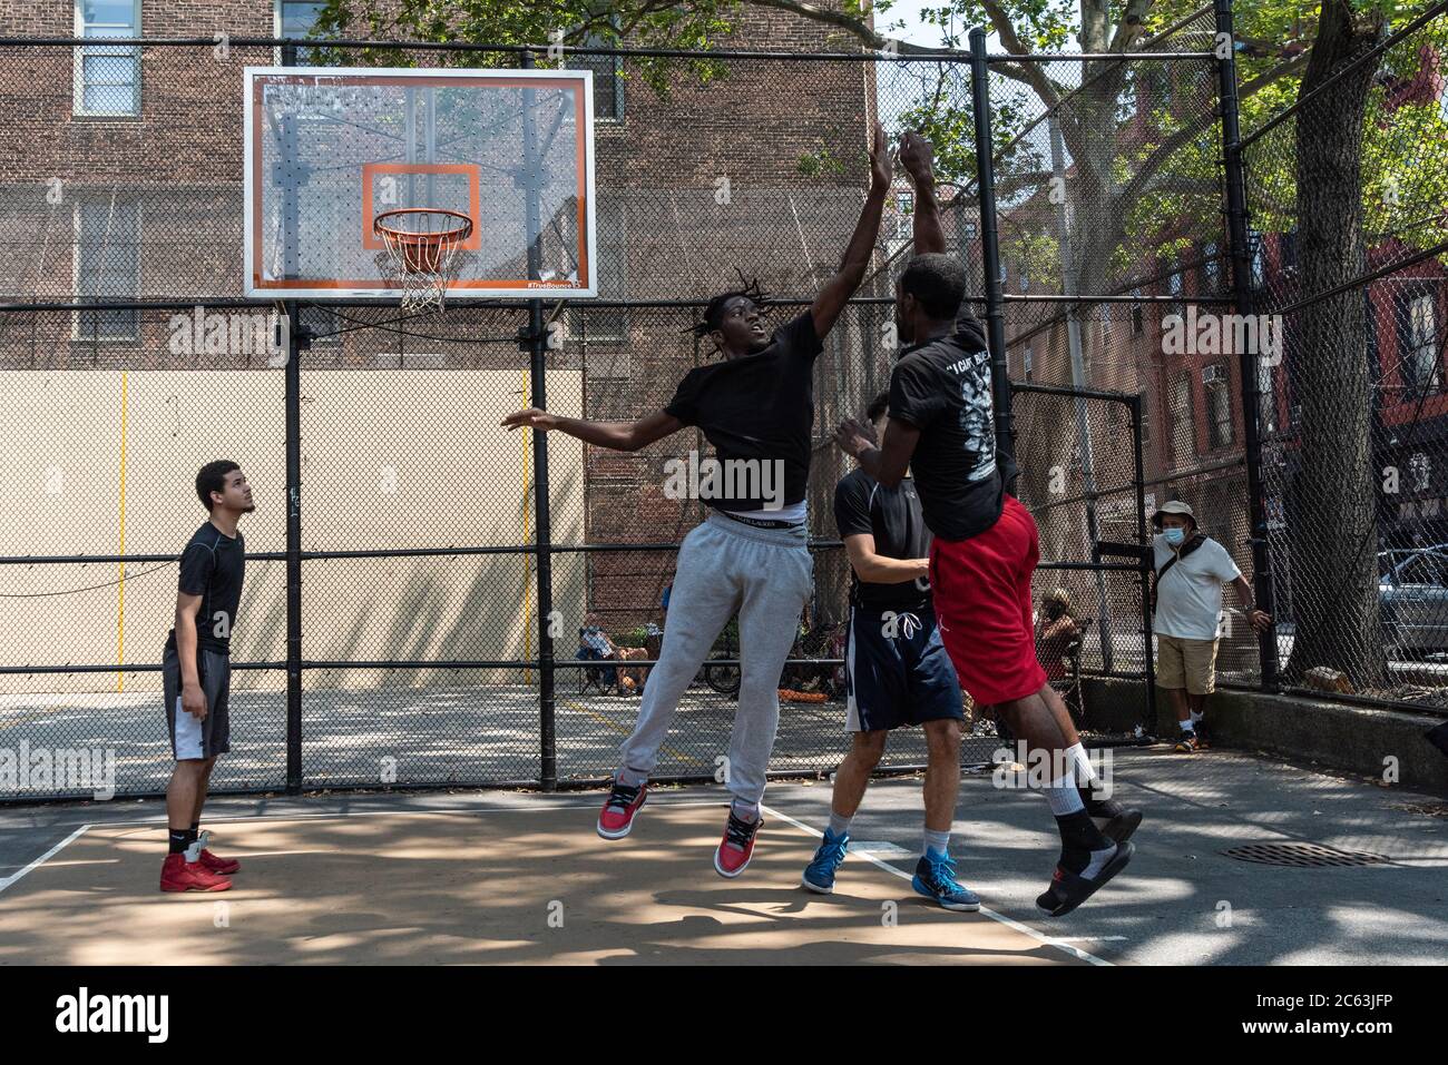
[(679, 697), (737, 612), (741, 679), (725, 783), (744, 802), (765, 797), (779, 726), (779, 677), (814, 582), (807, 544), (802, 525), (753, 528), (718, 514), (683, 538), (663, 648), (644, 684), (639, 722), (623, 745), (624, 767), (653, 773)]

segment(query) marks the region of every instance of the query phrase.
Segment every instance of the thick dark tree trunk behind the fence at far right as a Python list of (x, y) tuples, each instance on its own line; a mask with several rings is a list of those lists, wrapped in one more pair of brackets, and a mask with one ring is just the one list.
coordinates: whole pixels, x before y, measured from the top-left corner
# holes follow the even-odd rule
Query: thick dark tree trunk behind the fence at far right
[[(1363, 122), (1376, 64), (1360, 62), (1326, 91), (1313, 90), (1354, 62), (1377, 36), (1354, 22), (1348, 0), (1325, 0), (1296, 116), (1297, 298), (1365, 273)], [(1310, 98), (1309, 98), (1310, 97)], [(1267, 310), (1267, 308), (1264, 308)], [(1300, 467), (1289, 537), (1296, 640), (1289, 682), (1315, 666), (1348, 674), (1357, 689), (1387, 683), (1377, 590), (1377, 476), (1373, 381), (1363, 288), (1297, 311), (1289, 323)]]

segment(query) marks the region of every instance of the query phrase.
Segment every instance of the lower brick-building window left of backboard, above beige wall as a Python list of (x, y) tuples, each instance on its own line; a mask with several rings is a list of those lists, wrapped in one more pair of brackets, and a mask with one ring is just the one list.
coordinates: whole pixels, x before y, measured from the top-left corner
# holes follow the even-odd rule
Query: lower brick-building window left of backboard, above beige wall
[[(140, 295), (140, 213), (135, 201), (75, 203), (75, 301), (127, 302)], [(139, 313), (75, 313), (77, 340), (135, 340)]]

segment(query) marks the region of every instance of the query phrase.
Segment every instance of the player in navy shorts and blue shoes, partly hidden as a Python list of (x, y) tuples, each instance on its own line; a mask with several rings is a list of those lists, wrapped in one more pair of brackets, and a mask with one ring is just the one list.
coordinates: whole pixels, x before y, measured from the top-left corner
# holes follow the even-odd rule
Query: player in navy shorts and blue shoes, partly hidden
[[(876, 438), (885, 434), (889, 395), (866, 411)], [(886, 488), (864, 470), (834, 489), (834, 521), (850, 557), (850, 628), (846, 642), (846, 728), (850, 752), (834, 774), (830, 825), (802, 883), (830, 894), (850, 845), (850, 820), (891, 729), (924, 725), (925, 841), (912, 886), (947, 910), (979, 910), (980, 900), (956, 881), (950, 823), (960, 790), (960, 680), (940, 641), (927, 567), (930, 530), (906, 475)]]

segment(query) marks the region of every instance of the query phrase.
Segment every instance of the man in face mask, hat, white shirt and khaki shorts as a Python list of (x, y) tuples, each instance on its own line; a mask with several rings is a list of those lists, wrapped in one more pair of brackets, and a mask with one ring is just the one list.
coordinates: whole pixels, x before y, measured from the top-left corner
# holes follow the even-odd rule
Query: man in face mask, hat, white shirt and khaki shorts
[(1196, 528), (1196, 515), (1173, 499), (1151, 515), (1161, 530), (1153, 537), (1153, 631), (1157, 634), (1157, 686), (1171, 695), (1182, 735), (1176, 750), (1195, 754), (1206, 747), (1206, 696), (1216, 686), (1218, 618), (1222, 585), (1237, 589), (1247, 621), (1257, 631), (1271, 616), (1253, 605), (1253, 586), (1226, 548)]

